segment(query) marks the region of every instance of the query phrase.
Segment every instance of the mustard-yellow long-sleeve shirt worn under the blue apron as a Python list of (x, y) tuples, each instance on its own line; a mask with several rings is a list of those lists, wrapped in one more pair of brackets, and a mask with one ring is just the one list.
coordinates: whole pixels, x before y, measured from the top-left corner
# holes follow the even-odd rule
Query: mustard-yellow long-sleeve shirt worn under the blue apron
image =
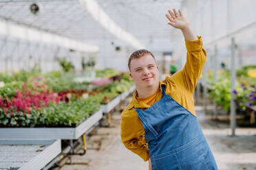
[[(184, 68), (171, 76), (165, 77), (165, 80), (159, 83), (160, 85), (165, 84), (166, 93), (195, 115), (193, 91), (206, 61), (206, 51), (202, 46), (202, 38), (200, 36), (198, 36), (198, 40), (185, 40), (185, 44), (187, 53)], [(152, 104), (145, 104), (137, 97), (138, 93), (135, 91), (130, 104), (122, 111), (120, 135), (122, 143), (127, 149), (147, 161), (149, 160), (149, 148), (145, 141), (142, 122), (135, 108), (149, 108)], [(156, 94), (155, 101), (160, 100), (161, 97), (162, 89), (160, 88)]]

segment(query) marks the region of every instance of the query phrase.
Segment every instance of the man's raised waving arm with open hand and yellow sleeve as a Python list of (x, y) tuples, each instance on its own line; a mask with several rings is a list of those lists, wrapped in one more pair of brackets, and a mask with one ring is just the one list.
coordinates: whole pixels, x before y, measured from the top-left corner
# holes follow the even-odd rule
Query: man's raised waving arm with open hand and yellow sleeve
[(195, 35), (189, 25), (189, 21), (182, 15), (180, 10), (179, 14), (176, 10), (173, 10), (173, 12), (169, 10), (168, 12), (169, 14), (166, 14), (167, 19), (170, 21), (168, 24), (182, 31), (187, 50), (184, 68), (171, 76), (171, 79), (193, 93), (206, 61), (206, 51), (202, 46), (202, 38)]

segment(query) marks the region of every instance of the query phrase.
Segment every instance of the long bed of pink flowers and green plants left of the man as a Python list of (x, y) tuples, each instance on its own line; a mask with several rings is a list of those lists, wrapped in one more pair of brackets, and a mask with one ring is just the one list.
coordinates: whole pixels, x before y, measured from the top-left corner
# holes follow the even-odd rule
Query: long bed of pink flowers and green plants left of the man
[(132, 85), (125, 74), (93, 88), (58, 72), (28, 72), (19, 82), (12, 76), (0, 84), (1, 127), (75, 127)]

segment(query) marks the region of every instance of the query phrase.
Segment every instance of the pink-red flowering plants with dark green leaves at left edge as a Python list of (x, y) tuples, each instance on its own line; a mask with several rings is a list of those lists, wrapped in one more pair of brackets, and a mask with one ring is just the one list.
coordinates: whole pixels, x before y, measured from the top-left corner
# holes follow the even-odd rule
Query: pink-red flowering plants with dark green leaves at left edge
[[(54, 93), (30, 90), (25, 83), (22, 90), (17, 90), (14, 97), (0, 97), (0, 125), (1, 126), (28, 126), (40, 119), (40, 112), (50, 103), (58, 104), (61, 97)], [(33, 121), (34, 120), (34, 121)]]

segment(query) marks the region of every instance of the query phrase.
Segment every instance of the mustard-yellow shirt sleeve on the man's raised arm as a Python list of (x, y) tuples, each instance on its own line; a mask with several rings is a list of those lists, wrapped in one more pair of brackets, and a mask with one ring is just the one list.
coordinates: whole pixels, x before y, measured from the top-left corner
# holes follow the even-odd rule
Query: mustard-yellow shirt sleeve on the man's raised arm
[(204, 63), (206, 62), (206, 51), (202, 46), (202, 38), (198, 36), (198, 40), (185, 40), (186, 44), (186, 64), (182, 69), (183, 84), (191, 93), (195, 90)]

